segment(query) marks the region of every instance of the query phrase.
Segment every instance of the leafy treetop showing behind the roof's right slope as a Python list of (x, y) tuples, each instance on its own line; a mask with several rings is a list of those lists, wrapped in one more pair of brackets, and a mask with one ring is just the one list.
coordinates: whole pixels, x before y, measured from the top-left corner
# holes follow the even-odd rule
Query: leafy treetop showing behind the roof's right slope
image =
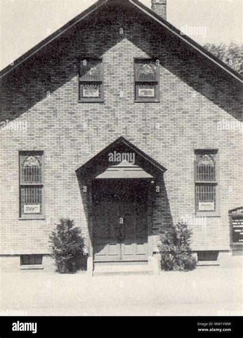
[(243, 70), (243, 45), (239, 46), (234, 42), (231, 42), (229, 45), (224, 43), (217, 45), (208, 43), (204, 48), (235, 71), (240, 72)]

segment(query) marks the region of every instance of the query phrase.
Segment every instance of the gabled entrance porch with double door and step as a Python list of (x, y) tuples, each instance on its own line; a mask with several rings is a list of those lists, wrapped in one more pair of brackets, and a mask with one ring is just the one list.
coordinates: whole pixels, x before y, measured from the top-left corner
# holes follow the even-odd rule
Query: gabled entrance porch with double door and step
[[(112, 152), (121, 154), (121, 162), (110, 162)], [(134, 164), (124, 160), (125, 155), (131, 155)], [(100, 267), (109, 272), (114, 266), (118, 270), (123, 266), (121, 271), (124, 266), (128, 270), (153, 270), (152, 194), (154, 178), (165, 171), (124, 138), (77, 171), (79, 185), (84, 184), (80, 184), (82, 180), (88, 187), (90, 273)]]

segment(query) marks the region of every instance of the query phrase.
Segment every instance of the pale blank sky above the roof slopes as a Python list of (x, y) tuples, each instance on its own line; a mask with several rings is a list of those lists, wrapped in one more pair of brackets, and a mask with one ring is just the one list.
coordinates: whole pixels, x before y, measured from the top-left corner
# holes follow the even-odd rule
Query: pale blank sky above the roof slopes
[[(95, 2), (0, 0), (0, 69)], [(151, 0), (140, 2), (151, 7)], [(167, 20), (176, 28), (184, 29), (200, 45), (242, 43), (243, 0), (167, 0), (167, 3)]]

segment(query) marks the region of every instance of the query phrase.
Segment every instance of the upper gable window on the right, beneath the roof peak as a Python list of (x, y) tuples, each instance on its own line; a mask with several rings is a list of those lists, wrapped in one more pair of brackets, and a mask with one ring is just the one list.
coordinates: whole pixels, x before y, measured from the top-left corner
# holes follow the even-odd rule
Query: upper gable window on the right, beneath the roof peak
[(159, 64), (155, 60), (135, 60), (135, 101), (159, 101)]

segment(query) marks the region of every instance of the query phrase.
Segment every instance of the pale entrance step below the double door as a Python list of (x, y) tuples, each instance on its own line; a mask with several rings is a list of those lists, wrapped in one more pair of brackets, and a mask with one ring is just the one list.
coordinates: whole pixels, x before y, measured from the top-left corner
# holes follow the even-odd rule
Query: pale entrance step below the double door
[[(140, 263), (140, 264), (139, 264)], [(93, 275), (130, 275), (130, 274), (142, 274), (142, 275), (152, 275), (153, 269), (148, 262), (121, 262), (115, 263), (111, 262), (110, 264), (106, 262), (94, 263)]]

